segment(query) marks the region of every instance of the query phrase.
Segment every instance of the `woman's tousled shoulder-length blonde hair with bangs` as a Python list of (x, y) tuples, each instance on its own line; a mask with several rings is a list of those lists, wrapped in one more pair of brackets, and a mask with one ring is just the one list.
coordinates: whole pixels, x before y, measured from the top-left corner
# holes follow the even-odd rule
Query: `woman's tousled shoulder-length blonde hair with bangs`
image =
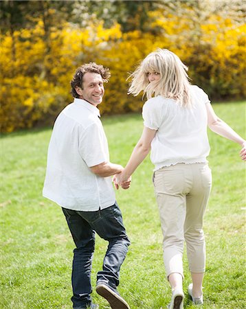
[[(144, 91), (147, 99), (157, 95), (178, 100), (181, 106), (191, 105), (190, 82), (188, 67), (179, 57), (168, 49), (158, 48), (142, 60), (139, 67), (129, 76), (133, 78), (128, 94), (138, 95)], [(148, 81), (148, 72), (157, 72), (160, 79), (155, 82)]]

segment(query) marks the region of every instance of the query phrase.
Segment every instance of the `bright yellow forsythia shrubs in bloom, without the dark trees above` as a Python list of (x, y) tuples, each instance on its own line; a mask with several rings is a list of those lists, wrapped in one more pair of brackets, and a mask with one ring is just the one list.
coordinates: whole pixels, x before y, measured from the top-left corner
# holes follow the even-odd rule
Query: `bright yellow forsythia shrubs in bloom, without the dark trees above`
[(151, 12), (156, 33), (122, 33), (115, 23), (105, 29), (101, 21), (85, 28), (63, 23), (45, 33), (43, 21), (33, 29), (1, 35), (1, 130), (53, 124), (73, 98), (69, 82), (76, 67), (95, 61), (109, 67), (101, 113), (140, 111), (141, 95), (127, 95), (128, 78), (136, 65), (157, 47), (171, 49), (190, 67), (192, 83), (211, 98), (243, 98), (245, 88), (245, 25), (210, 16), (194, 24), (186, 16)]

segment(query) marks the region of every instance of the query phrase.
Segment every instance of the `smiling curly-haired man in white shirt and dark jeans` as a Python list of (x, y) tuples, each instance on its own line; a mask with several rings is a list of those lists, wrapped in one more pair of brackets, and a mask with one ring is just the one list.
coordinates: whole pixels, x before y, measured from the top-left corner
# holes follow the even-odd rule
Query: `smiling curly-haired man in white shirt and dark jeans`
[[(76, 244), (72, 268), (74, 308), (97, 309), (91, 301), (91, 262), (95, 232), (109, 242), (98, 272), (96, 291), (113, 309), (129, 308), (117, 291), (120, 266), (128, 245), (122, 214), (115, 201), (111, 177), (122, 172), (109, 161), (109, 149), (100, 112), (103, 83), (109, 69), (94, 62), (82, 65), (71, 80), (74, 102), (58, 115), (49, 142), (43, 196), (63, 209)], [(122, 187), (127, 189), (131, 180)]]

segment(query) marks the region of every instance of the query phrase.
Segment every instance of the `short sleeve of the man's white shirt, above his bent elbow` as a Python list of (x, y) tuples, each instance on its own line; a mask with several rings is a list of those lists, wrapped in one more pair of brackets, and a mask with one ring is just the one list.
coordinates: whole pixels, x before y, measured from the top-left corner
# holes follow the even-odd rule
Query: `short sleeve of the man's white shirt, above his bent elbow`
[(107, 138), (100, 124), (92, 124), (79, 139), (78, 151), (87, 166), (98, 165), (109, 161)]

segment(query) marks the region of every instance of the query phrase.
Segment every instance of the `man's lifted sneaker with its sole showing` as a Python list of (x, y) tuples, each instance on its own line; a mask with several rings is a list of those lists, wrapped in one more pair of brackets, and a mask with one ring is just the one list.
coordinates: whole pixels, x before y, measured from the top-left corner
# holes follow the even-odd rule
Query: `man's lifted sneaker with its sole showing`
[(96, 292), (109, 301), (112, 309), (130, 309), (129, 305), (118, 293), (118, 290), (112, 288), (107, 282), (98, 281)]

